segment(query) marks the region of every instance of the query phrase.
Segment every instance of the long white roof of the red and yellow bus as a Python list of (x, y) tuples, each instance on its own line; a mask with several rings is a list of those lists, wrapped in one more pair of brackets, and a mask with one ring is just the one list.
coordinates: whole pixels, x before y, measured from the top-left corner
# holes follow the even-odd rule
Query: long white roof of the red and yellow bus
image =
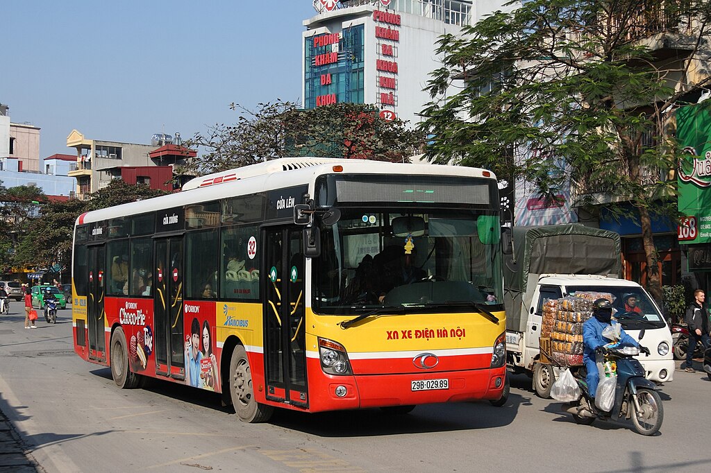
[[(336, 171), (333, 169), (335, 166), (341, 166), (343, 169)], [(364, 159), (281, 158), (195, 178), (183, 186), (183, 192), (161, 195), (161, 197), (130, 202), (106, 209), (93, 210), (80, 215), (77, 218), (77, 224), (100, 222), (145, 212), (163, 211), (173, 207), (210, 202), (224, 197), (250, 195), (295, 185), (308, 184), (311, 186), (319, 175), (324, 174), (451, 175), (496, 179), (496, 175), (491, 171), (461, 166), (387, 163)], [(232, 175), (235, 177), (232, 178)], [(230, 176), (230, 178), (225, 179), (225, 176)], [(220, 177), (223, 179), (220, 179)], [(203, 180), (212, 180), (212, 183), (201, 186)]]

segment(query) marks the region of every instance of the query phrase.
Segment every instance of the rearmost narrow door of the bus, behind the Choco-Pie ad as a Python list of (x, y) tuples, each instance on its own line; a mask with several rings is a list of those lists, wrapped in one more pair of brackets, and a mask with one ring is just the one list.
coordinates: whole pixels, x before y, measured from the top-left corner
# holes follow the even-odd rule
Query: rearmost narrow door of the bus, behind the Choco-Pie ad
[(89, 328), (89, 359), (106, 361), (106, 248), (89, 247), (87, 295), (87, 325)]

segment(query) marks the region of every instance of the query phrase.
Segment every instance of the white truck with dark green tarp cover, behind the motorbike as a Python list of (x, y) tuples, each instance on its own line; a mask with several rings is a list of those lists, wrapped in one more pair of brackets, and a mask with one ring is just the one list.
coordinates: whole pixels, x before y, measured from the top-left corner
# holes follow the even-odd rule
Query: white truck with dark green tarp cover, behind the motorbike
[[(620, 279), (620, 237), (615, 232), (560, 224), (514, 227), (505, 251), (504, 307), (508, 366), (533, 374), (542, 397), (555, 381), (554, 366), (540, 362), (543, 305), (577, 293), (605, 293), (613, 300), (624, 329), (633, 337), (645, 329), (651, 357), (640, 359), (652, 381), (671, 381), (674, 365), (671, 334), (656, 303), (637, 283)], [(624, 298), (635, 295), (641, 313), (627, 312)], [(654, 330), (662, 329), (662, 330)], [(642, 333), (645, 333), (642, 332)], [(637, 338), (637, 337), (636, 337)], [(653, 345), (653, 346), (652, 346)]]

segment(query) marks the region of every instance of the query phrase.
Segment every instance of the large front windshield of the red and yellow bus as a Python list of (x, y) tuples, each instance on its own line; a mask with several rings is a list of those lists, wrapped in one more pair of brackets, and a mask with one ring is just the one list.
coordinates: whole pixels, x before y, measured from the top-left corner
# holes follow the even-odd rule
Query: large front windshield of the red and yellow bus
[(501, 310), (500, 235), (491, 210), (341, 209), (336, 224), (321, 228), (313, 307), (324, 314)]

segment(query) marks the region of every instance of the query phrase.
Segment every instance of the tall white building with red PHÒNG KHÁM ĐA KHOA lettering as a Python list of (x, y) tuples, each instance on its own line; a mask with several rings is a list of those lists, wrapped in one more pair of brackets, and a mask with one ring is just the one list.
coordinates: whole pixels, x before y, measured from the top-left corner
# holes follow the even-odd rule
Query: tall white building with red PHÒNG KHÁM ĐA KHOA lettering
[[(306, 0), (301, 0), (306, 1)], [(315, 0), (304, 20), (304, 108), (376, 104), (383, 118), (419, 121), (437, 69), (437, 38), (459, 33), (501, 0)]]

